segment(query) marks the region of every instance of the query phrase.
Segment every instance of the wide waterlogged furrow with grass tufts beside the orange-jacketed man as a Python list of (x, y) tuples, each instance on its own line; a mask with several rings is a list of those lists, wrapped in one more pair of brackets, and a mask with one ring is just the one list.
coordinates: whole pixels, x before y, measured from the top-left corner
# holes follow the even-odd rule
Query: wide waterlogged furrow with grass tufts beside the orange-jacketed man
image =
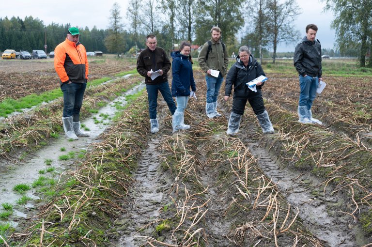
[[(110, 119), (118, 111), (116, 106), (118, 104), (120, 106), (124, 106), (127, 103), (125, 101), (125, 96), (139, 93), (144, 88), (144, 83), (135, 86), (133, 89), (127, 91), (122, 96), (119, 96), (110, 102), (106, 107), (100, 108), (98, 113), (93, 114), (89, 119), (83, 121), (82, 124), (85, 124), (85, 126), (90, 129), (90, 137), (82, 137), (72, 142), (61, 137), (35, 153), (30, 154), (30, 157), (28, 157), (27, 160), (25, 159), (25, 161), (19, 161), (16, 164), (11, 164), (9, 162), (5, 164), (5, 167), (2, 168), (3, 172), (0, 173), (0, 204), (3, 202), (16, 204), (16, 200), (21, 198), (21, 194), (13, 191), (13, 187), (15, 185), (20, 183), (31, 185), (31, 183), (38, 179), (38, 177), (41, 175), (45, 177), (51, 176), (50, 172), (39, 174), (39, 170), (47, 170), (47, 168), (54, 167), (56, 171), (61, 172), (65, 170), (66, 167), (71, 166), (76, 158), (61, 161), (59, 160), (59, 156), (74, 152), (76, 157), (81, 150), (86, 150), (89, 144), (95, 141), (95, 139), (106, 129), (106, 127), (109, 126), (111, 121)], [(95, 124), (94, 121), (103, 123)], [(62, 135), (64, 135), (64, 133)], [(65, 151), (60, 150), (62, 147), (65, 148)], [(52, 164), (47, 166), (45, 159), (53, 160)], [(74, 168), (69, 169), (74, 170)], [(39, 199), (39, 197), (35, 195), (35, 192), (36, 188), (32, 188), (27, 192), (27, 196), (31, 197), (32, 199)], [(31, 207), (33, 207), (31, 203), (26, 204), (25, 206), (25, 208)], [(23, 213), (19, 213), (19, 216), (23, 217), (23, 215), (21, 215)]]

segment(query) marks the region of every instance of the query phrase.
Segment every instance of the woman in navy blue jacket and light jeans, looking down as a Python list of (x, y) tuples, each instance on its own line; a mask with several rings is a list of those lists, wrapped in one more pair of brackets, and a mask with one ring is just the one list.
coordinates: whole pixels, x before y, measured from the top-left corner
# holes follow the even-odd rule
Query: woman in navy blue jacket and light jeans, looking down
[(190, 87), (196, 92), (190, 51), (191, 44), (188, 41), (181, 42), (180, 50), (176, 51), (172, 61), (172, 96), (176, 97), (177, 101), (177, 109), (172, 118), (173, 133), (190, 128), (190, 125), (184, 124), (184, 111), (190, 97)]

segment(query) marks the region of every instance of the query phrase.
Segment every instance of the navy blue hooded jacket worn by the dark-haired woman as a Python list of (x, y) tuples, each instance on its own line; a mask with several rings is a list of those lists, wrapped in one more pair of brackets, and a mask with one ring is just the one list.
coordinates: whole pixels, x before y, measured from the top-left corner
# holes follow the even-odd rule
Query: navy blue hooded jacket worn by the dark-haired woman
[(192, 64), (188, 56), (176, 51), (172, 61), (172, 96), (190, 96), (190, 86), (196, 92)]

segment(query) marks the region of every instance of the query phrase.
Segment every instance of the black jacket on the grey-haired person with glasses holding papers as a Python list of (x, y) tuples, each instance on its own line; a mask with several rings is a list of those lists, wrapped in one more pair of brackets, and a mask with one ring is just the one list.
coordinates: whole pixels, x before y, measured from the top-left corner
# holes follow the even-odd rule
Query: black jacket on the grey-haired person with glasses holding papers
[[(259, 76), (266, 75), (263, 72), (261, 64), (258, 63), (252, 55), (249, 55), (249, 63), (247, 67), (244, 66), (238, 56), (236, 62), (231, 66), (226, 76), (225, 96), (230, 96), (233, 85), (234, 96), (248, 96), (249, 93), (254, 93), (248, 88), (246, 83)], [(257, 89), (261, 90), (262, 85), (257, 86)]]

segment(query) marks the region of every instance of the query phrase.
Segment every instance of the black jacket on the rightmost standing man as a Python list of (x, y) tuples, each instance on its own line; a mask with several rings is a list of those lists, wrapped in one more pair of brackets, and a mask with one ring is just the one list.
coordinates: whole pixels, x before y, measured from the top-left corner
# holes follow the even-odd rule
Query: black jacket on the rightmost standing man
[(301, 76), (322, 77), (322, 46), (306, 36), (294, 49), (294, 67)]

